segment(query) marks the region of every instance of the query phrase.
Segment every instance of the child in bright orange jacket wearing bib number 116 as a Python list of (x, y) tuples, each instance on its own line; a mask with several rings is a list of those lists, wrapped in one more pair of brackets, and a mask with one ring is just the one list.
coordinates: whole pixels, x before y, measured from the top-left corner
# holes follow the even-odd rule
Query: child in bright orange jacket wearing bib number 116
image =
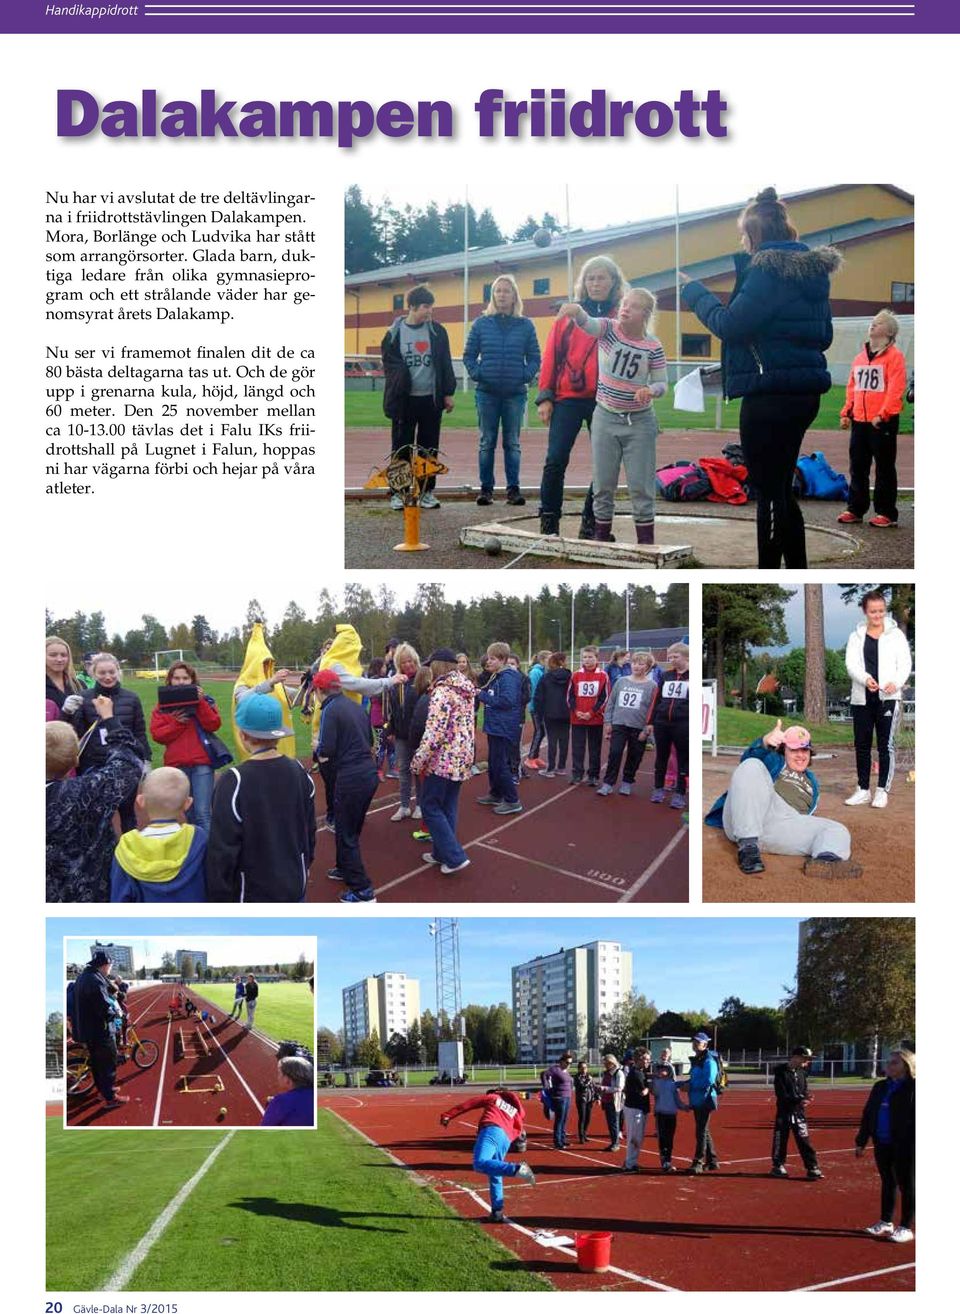
[(869, 511), (869, 468), (876, 463), (875, 530), (897, 523), (897, 432), (906, 392), (906, 361), (894, 346), (900, 322), (890, 310), (879, 310), (869, 338), (850, 367), (847, 399), (840, 428), (850, 430), (850, 497), (840, 524), (860, 524)]

